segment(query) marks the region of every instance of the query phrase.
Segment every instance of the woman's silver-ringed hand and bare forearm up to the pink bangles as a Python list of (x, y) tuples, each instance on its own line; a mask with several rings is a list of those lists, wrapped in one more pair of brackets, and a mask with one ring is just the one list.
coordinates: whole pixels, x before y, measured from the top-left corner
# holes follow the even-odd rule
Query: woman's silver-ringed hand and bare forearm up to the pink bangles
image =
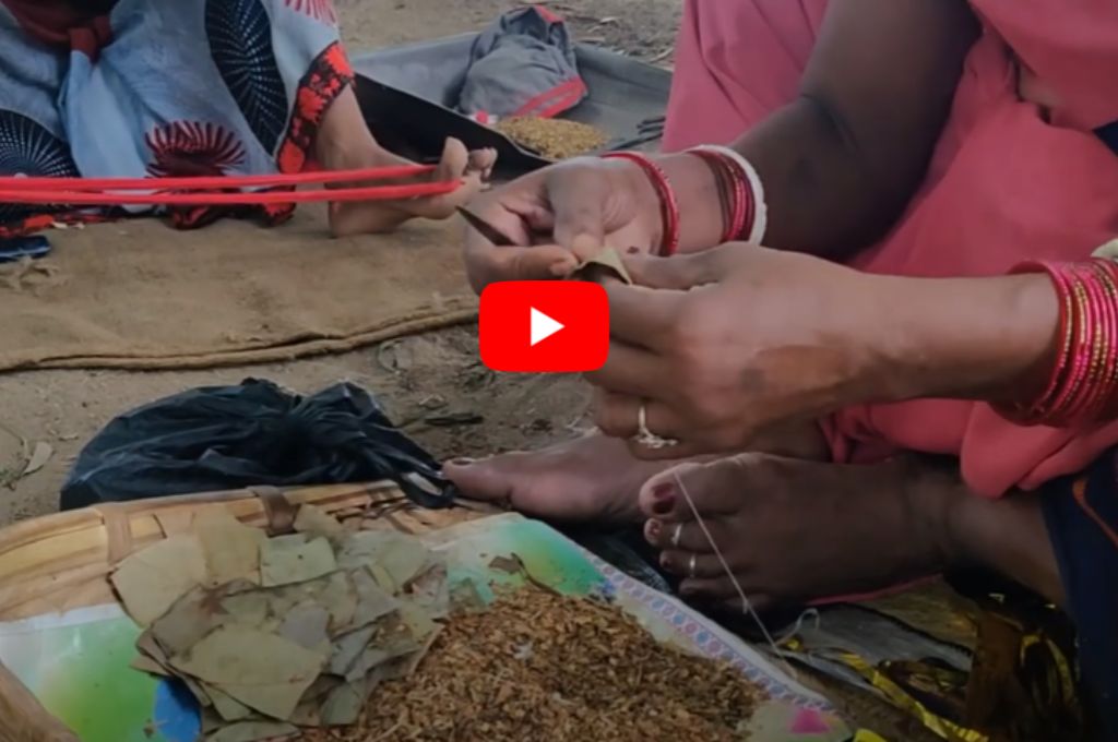
[(916, 397), (989, 398), (1049, 356), (1058, 310), (1043, 276), (920, 279), (729, 244), (628, 257), (609, 284), (613, 342), (596, 421), (678, 439), (642, 458), (746, 450), (787, 424)]

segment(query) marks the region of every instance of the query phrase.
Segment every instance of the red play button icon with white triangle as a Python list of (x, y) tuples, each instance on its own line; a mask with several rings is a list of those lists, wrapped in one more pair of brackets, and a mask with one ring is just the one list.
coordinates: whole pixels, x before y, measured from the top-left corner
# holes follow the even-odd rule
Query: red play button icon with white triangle
[(490, 284), (480, 325), (482, 363), (493, 371), (596, 371), (609, 354), (609, 302), (598, 284)]

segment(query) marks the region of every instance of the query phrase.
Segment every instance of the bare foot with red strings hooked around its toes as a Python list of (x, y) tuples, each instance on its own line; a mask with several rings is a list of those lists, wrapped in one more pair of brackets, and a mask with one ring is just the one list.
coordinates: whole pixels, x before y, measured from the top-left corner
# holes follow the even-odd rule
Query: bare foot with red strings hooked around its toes
[[(407, 199), (402, 201), (341, 201), (330, 204), (330, 229), (335, 237), (387, 232), (409, 219), (446, 219), (457, 207), (464, 206), (481, 191), (496, 162), (495, 150), (467, 152), (466, 146), (455, 139), (446, 140), (443, 160), (428, 181), (461, 181), (458, 189), (445, 196)], [(356, 170), (359, 168), (381, 168), (386, 165), (410, 164), (388, 150), (378, 149), (348, 162), (331, 163), (332, 170)], [(400, 181), (398, 181), (400, 182)], [(411, 181), (415, 182), (415, 181)], [(345, 185), (359, 185), (347, 183)]]

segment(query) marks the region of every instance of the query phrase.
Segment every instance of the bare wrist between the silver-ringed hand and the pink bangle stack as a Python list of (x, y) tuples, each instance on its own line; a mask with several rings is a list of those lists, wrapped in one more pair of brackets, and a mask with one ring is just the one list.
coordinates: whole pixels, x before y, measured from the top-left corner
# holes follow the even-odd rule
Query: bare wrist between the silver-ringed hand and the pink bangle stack
[(1046, 276), (880, 280), (879, 310), (891, 317), (879, 349), (891, 400), (1002, 401), (1044, 383), (1060, 321)]

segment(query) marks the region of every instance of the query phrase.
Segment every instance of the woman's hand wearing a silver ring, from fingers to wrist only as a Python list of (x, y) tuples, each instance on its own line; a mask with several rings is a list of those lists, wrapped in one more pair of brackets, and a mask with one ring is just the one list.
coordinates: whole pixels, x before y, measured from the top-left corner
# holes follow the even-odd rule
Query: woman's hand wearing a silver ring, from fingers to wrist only
[(757, 436), (862, 399), (880, 378), (881, 314), (849, 268), (731, 242), (694, 255), (626, 258), (636, 286), (610, 284), (604, 432), (650, 431), (679, 446), (644, 458), (745, 450)]

